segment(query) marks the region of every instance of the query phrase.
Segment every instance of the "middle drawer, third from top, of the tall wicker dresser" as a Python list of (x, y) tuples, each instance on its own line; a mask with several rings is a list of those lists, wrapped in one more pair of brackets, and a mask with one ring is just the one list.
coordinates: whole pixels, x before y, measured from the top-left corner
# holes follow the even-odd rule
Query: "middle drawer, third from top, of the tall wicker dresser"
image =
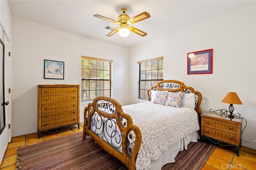
[(65, 103), (55, 103), (55, 104), (42, 104), (42, 112), (53, 111), (61, 109), (73, 109), (78, 108), (78, 102), (65, 102)]

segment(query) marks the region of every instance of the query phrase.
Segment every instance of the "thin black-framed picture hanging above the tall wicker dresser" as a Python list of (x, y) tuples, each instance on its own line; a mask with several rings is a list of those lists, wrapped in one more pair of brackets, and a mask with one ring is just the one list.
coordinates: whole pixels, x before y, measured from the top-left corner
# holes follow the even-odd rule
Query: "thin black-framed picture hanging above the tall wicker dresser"
[(44, 78), (64, 79), (64, 62), (44, 60)]

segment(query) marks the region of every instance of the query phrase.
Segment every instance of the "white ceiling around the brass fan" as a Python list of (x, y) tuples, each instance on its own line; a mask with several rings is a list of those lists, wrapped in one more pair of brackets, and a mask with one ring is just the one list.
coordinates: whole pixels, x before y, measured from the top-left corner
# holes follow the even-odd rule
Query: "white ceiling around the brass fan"
[[(255, 4), (255, 0), (8, 0), (8, 4), (12, 16), (132, 47)], [(106, 37), (110, 32), (104, 28), (106, 25), (114, 28), (119, 25), (93, 15), (100, 14), (118, 20), (121, 8), (127, 8), (131, 18), (144, 11), (150, 13), (150, 18), (131, 25), (148, 35), (141, 37), (131, 32), (126, 38), (120, 37), (118, 33)]]

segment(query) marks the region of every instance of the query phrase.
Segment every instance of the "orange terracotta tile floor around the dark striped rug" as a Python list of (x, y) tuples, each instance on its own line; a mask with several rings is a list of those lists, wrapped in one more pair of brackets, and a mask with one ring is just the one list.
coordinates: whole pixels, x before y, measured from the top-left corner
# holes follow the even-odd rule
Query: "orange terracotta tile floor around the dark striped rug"
[[(41, 137), (41, 139), (38, 139), (37, 133), (13, 137), (11, 143), (8, 144), (0, 169), (15, 170), (17, 148), (19, 146), (25, 147), (35, 143), (61, 138), (72, 133), (77, 133), (83, 131), (82, 125), (83, 124), (80, 124), (79, 130), (78, 128), (73, 127), (67, 131), (46, 134)], [(236, 156), (231, 147), (217, 146), (202, 170), (254, 170), (256, 167), (256, 150), (241, 147), (239, 154), (239, 157)]]

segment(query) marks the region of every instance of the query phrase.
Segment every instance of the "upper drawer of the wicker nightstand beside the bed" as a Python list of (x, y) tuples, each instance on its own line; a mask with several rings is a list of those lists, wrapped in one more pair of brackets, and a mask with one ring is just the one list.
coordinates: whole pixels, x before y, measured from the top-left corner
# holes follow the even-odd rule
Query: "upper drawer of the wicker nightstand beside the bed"
[(236, 124), (225, 123), (203, 117), (203, 126), (215, 127), (216, 129), (236, 133)]

